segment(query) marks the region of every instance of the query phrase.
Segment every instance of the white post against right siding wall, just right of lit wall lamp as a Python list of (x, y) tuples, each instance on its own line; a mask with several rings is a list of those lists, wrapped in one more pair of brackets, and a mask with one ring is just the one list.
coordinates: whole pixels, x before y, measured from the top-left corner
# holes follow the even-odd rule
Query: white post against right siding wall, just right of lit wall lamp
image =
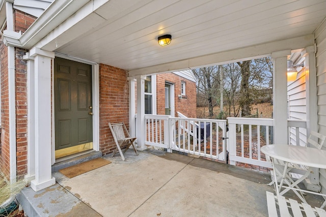
[[(317, 81), (315, 46), (306, 47), (302, 52), (305, 57), (306, 68), (306, 109), (307, 109), (307, 137), (311, 131), (318, 132), (317, 126)], [(306, 188), (312, 191), (319, 191), (319, 171), (314, 168), (309, 179), (305, 180)]]

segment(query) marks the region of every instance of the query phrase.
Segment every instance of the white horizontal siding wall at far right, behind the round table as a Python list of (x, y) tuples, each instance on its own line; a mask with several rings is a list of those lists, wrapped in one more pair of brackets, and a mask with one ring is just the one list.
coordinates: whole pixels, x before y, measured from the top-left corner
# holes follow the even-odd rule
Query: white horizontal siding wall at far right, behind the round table
[[(316, 75), (317, 75), (317, 110), (318, 132), (326, 135), (326, 21), (315, 32), (317, 45)], [(326, 149), (326, 146), (322, 147)], [(326, 158), (326, 156), (325, 156)], [(326, 194), (326, 170), (319, 170), (321, 191)]]

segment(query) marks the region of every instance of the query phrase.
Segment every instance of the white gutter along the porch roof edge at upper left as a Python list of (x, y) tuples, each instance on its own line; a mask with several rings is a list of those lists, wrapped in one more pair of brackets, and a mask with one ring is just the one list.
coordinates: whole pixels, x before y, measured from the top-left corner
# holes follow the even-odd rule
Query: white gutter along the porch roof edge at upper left
[[(0, 4), (1, 1), (5, 0), (0, 0)], [(44, 13), (35, 20), (25, 33), (17, 33), (11, 29), (4, 30), (3, 42), (6, 46), (15, 46), (29, 50), (53, 29), (90, 1), (93, 0), (55, 0), (49, 5)]]

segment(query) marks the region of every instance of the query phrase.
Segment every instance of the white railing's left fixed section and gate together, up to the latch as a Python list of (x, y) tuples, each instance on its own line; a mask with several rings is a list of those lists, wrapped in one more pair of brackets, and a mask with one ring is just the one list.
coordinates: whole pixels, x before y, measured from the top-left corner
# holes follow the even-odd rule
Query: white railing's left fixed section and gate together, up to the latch
[(226, 161), (226, 120), (145, 115), (145, 144)]

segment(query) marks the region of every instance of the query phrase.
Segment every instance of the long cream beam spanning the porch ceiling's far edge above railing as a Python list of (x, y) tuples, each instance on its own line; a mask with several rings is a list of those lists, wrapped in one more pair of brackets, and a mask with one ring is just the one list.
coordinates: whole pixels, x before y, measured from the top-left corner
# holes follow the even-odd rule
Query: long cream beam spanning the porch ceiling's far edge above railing
[(314, 36), (302, 36), (282, 41), (275, 41), (251, 47), (229, 50), (220, 53), (175, 61), (172, 63), (145, 67), (129, 71), (129, 76), (175, 72), (185, 69), (195, 69), (205, 66), (232, 63), (236, 60), (248, 60), (262, 56), (270, 56), (279, 50), (296, 50), (314, 45)]

